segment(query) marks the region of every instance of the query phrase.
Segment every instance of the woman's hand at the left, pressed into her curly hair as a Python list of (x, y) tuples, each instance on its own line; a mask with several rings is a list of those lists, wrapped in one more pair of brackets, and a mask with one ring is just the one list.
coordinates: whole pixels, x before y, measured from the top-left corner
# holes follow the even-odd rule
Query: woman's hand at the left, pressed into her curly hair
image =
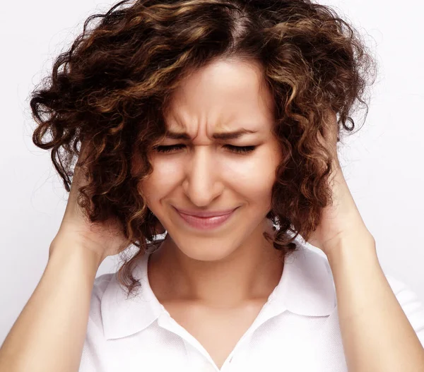
[(85, 215), (85, 211), (78, 205), (78, 188), (87, 184), (84, 177), (85, 167), (81, 167), (80, 164), (86, 155), (88, 155), (88, 147), (86, 143), (82, 143), (64, 218), (59, 232), (50, 245), (50, 254), (52, 249), (63, 246), (63, 244), (55, 244), (61, 241), (66, 242), (66, 246), (75, 244), (93, 251), (101, 262), (107, 256), (113, 256), (124, 251), (131, 243), (124, 238), (122, 224), (117, 220), (111, 218), (106, 222), (91, 223)]

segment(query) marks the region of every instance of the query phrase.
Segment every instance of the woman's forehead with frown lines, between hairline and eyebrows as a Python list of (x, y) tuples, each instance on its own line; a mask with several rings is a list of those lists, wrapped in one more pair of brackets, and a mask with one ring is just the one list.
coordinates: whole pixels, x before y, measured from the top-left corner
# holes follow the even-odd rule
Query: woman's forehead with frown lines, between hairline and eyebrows
[(215, 61), (182, 80), (165, 120), (170, 131), (191, 138), (242, 128), (266, 132), (273, 123), (273, 98), (257, 64)]

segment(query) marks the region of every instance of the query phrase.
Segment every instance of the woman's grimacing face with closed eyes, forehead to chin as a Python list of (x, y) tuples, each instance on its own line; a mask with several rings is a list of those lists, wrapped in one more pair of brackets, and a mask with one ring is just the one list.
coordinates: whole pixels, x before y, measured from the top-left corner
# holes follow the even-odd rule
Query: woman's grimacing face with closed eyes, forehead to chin
[[(220, 260), (264, 239), (281, 160), (271, 134), (272, 110), (271, 93), (261, 86), (261, 71), (253, 63), (217, 61), (184, 80), (165, 121), (170, 132), (187, 139), (165, 138), (153, 152), (153, 173), (141, 184), (169, 244), (196, 260)], [(214, 138), (235, 131), (253, 133)], [(236, 146), (247, 151), (236, 152)], [(202, 229), (177, 209), (235, 211), (218, 227)]]

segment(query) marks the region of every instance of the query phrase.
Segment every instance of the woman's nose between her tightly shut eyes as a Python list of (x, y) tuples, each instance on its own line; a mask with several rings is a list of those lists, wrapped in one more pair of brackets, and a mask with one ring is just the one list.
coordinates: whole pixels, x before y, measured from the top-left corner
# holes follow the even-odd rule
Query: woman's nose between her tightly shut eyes
[(210, 205), (223, 191), (216, 157), (208, 146), (194, 149), (192, 157), (186, 163), (182, 184), (185, 195), (197, 207)]

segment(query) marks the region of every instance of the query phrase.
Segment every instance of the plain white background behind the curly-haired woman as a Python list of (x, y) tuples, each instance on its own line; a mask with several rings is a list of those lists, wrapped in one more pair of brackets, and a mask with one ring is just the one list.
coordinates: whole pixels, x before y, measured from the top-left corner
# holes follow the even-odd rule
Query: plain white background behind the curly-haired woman
[[(320, 2), (351, 20), (377, 58), (370, 111), (363, 128), (346, 138), (341, 163), (377, 241), (384, 272), (423, 300), (424, 5), (418, 0), (401, 6), (383, 0)], [(83, 21), (112, 4), (24, 0), (8, 1), (1, 9), (0, 342), (45, 270), (67, 200), (50, 152), (32, 143), (28, 95), (82, 31)], [(362, 123), (360, 114), (355, 119)], [(113, 272), (118, 263), (117, 256), (107, 258), (98, 275)]]

